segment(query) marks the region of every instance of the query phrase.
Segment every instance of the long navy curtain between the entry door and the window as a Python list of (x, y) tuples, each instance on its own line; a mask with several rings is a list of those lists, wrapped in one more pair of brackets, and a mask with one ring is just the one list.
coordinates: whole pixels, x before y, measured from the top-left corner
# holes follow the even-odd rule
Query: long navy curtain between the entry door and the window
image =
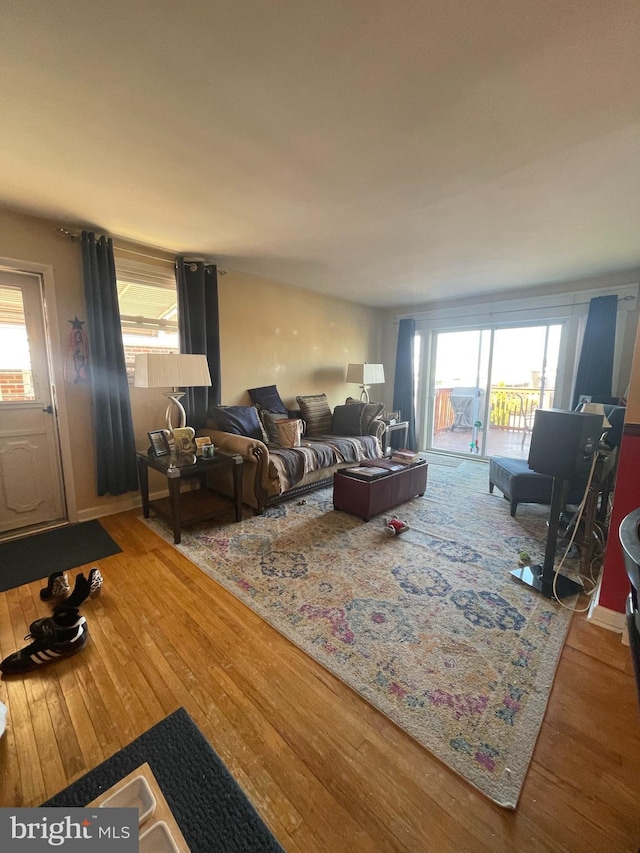
[(136, 444), (124, 362), (113, 245), (82, 232), (98, 495), (136, 491)]

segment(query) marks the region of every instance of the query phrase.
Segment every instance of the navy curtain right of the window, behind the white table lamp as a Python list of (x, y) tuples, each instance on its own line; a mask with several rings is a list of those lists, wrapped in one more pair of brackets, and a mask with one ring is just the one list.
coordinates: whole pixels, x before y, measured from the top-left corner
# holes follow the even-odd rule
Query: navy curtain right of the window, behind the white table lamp
[(207, 356), (211, 387), (187, 388), (183, 400), (187, 423), (195, 430), (206, 424), (209, 406), (220, 403), (220, 317), (218, 268), (215, 264), (176, 258), (180, 352)]

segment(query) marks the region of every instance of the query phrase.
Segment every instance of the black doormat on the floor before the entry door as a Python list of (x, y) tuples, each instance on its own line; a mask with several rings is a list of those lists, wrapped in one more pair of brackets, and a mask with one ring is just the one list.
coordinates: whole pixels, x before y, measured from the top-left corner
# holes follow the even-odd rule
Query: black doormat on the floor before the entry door
[(0, 592), (118, 554), (99, 521), (83, 521), (0, 543)]

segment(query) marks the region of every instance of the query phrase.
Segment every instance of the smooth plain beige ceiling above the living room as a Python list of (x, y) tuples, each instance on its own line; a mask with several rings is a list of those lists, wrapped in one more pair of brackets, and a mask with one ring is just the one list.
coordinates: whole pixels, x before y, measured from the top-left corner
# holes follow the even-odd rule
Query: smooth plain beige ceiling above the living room
[(0, 203), (372, 306), (640, 266), (637, 0), (3, 0)]

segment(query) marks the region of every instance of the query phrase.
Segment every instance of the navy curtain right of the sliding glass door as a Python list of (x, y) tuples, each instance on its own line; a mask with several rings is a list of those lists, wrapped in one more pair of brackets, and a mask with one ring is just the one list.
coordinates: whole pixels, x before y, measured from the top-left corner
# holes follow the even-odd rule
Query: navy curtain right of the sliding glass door
[(617, 296), (598, 296), (589, 303), (573, 394), (574, 409), (581, 394), (588, 394), (594, 402), (611, 397), (617, 312)]

